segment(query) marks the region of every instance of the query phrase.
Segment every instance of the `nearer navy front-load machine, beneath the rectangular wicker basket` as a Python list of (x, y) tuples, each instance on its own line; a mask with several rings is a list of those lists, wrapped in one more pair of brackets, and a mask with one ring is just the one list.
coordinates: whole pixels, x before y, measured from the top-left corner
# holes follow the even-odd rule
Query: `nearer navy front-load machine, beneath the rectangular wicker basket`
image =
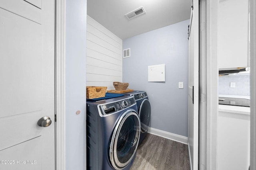
[(134, 96), (86, 102), (88, 170), (129, 170), (140, 139)]

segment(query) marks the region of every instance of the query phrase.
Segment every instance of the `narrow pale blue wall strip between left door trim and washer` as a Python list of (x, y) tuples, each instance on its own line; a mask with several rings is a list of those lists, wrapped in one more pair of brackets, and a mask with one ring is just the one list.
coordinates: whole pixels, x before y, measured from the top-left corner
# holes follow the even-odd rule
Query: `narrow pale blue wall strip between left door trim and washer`
[(66, 0), (66, 170), (86, 170), (86, 3)]

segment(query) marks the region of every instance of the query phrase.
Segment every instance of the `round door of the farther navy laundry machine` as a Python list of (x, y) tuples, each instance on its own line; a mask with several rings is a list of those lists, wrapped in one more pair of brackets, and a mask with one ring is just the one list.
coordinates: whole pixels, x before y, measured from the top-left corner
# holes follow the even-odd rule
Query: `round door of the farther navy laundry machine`
[(147, 99), (143, 100), (140, 104), (139, 116), (140, 116), (140, 125), (141, 125), (140, 130), (142, 133), (144, 133), (148, 130), (150, 117), (151, 117), (151, 107)]

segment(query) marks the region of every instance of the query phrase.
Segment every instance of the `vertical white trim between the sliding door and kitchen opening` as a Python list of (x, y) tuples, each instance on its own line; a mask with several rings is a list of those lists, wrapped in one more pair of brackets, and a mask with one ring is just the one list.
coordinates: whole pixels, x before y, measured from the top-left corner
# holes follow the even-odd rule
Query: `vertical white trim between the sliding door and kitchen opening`
[(217, 170), (218, 137), (218, 8), (206, 1), (206, 169)]

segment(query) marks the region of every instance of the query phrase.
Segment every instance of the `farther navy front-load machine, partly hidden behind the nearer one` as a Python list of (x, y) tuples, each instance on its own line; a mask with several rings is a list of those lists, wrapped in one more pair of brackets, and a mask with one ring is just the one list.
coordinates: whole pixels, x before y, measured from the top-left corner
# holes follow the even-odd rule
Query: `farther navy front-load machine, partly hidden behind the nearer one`
[(133, 91), (133, 92), (127, 92), (127, 93), (122, 93), (124, 95), (128, 96), (134, 96), (136, 100), (136, 104), (138, 107), (138, 113), (140, 117), (140, 143), (144, 140), (148, 133), (148, 126), (150, 123), (150, 118), (151, 118), (151, 106), (150, 102), (148, 100), (148, 95), (145, 91)]

